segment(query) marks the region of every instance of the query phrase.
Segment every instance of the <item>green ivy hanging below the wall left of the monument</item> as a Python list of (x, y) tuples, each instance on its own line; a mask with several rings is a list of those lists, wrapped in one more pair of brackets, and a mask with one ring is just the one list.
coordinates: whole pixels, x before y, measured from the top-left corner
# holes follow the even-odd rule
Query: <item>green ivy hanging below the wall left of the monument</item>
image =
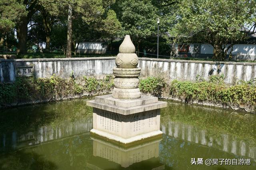
[(0, 105), (14, 102), (27, 102), (34, 100), (62, 100), (82, 96), (83, 94), (100, 94), (114, 87), (112, 75), (105, 76), (103, 80), (94, 77), (83, 77), (80, 82), (70, 75), (70, 79), (51, 76), (50, 78), (17, 77), (15, 82), (0, 83)]

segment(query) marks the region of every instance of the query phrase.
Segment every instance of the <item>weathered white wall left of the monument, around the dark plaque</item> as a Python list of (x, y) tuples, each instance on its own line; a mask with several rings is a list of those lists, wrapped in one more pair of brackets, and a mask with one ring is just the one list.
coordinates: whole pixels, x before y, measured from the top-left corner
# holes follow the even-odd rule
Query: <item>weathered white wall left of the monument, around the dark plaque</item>
[(15, 67), (21, 65), (34, 65), (36, 78), (48, 78), (55, 74), (62, 78), (69, 78), (74, 72), (76, 77), (112, 74), (115, 66), (115, 57), (97, 58), (36, 58), (0, 60), (1, 82), (15, 80)]

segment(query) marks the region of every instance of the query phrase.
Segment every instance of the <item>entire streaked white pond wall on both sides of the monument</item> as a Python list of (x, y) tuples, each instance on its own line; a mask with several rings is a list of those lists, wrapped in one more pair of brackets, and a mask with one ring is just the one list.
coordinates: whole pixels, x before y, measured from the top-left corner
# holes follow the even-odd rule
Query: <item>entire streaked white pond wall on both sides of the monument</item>
[[(116, 66), (115, 57), (96, 58), (41, 58), (41, 59), (0, 59), (0, 82), (15, 80), (15, 67), (34, 64), (35, 77), (46, 78), (56, 74), (69, 78), (71, 72), (76, 77), (101, 76), (112, 74)], [(256, 63), (252, 62), (212, 62), (194, 60), (168, 60), (155, 58), (139, 58), (141, 76), (163, 74), (167, 81), (174, 79), (195, 81), (196, 75), (208, 79), (210, 75), (224, 74), (226, 84), (237, 80), (256, 78)]]

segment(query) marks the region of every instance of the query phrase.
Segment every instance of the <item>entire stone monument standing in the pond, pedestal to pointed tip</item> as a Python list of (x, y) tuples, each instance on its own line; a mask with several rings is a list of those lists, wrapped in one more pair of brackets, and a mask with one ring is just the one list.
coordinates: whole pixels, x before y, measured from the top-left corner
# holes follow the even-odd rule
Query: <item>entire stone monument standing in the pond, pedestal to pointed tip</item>
[(112, 95), (97, 96), (87, 101), (93, 107), (91, 132), (124, 144), (162, 135), (160, 108), (166, 102), (141, 95), (138, 88), (140, 68), (135, 47), (126, 35), (119, 47), (114, 72), (115, 88)]

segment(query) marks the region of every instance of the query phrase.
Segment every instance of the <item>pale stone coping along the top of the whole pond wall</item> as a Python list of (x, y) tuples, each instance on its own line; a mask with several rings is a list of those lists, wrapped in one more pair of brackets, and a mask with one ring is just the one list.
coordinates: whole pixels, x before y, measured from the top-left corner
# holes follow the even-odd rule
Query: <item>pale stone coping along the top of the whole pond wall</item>
[[(81, 61), (81, 60), (114, 60), (116, 57), (88, 57), (88, 58), (28, 58), (28, 59), (1, 59), (0, 62), (47, 62), (47, 61)], [(146, 61), (160, 61), (160, 62), (181, 62), (181, 63), (200, 63), (200, 64), (227, 64), (227, 65), (256, 65), (256, 62), (215, 62), (203, 60), (176, 60), (176, 59), (162, 59), (162, 58), (139, 58), (139, 60)]]

